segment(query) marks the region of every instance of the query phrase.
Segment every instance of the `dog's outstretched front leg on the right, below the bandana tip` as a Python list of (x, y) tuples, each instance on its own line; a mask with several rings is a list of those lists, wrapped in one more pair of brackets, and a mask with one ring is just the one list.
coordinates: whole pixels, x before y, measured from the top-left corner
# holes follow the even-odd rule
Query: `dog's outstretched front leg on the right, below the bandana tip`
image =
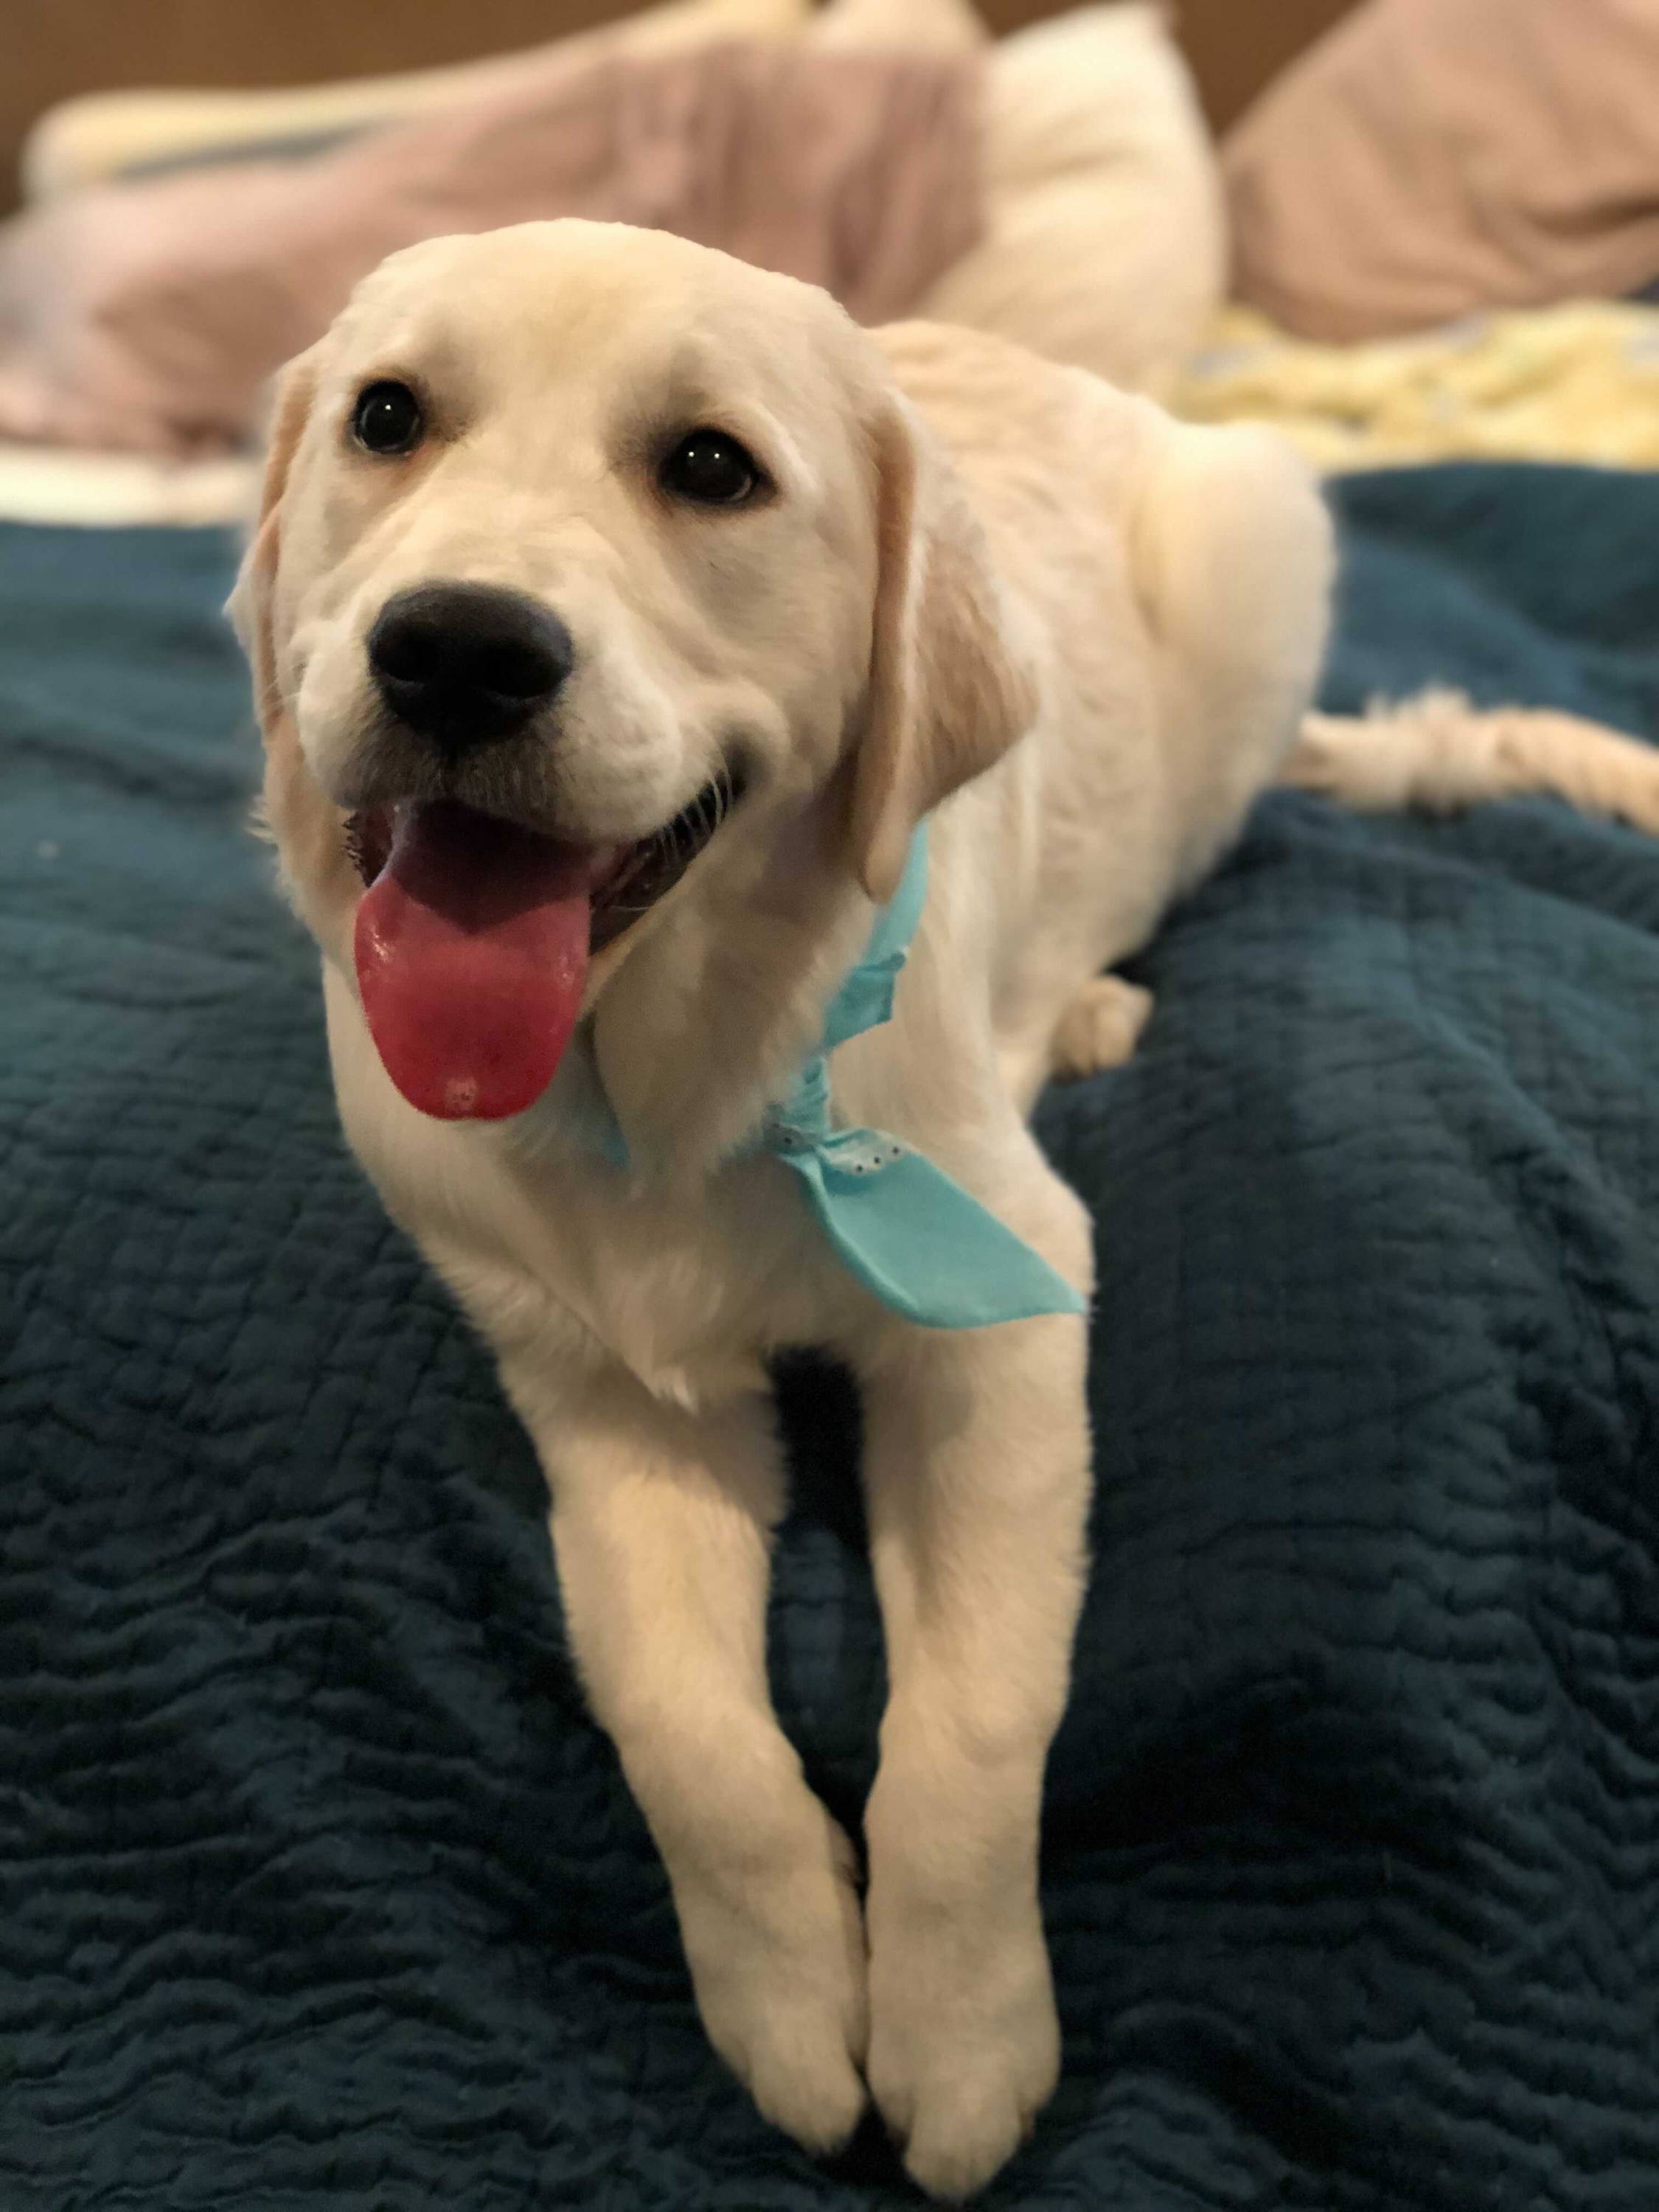
[(1060, 2066), (1037, 1823), (1084, 1584), (1084, 1325), (865, 1365), (891, 1697), (869, 1798), (869, 2086), (925, 2190), (1002, 2166)]

